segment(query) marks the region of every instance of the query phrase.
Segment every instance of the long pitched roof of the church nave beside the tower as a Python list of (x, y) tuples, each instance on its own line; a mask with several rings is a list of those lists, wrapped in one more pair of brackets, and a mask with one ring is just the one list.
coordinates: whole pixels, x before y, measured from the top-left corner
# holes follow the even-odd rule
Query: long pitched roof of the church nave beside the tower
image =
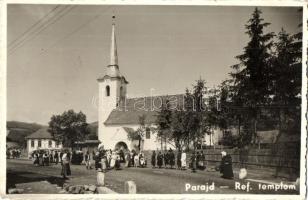
[(145, 123), (153, 124), (156, 121), (162, 102), (169, 101), (169, 108), (181, 109), (184, 105), (184, 95), (165, 95), (130, 98), (122, 101), (117, 109), (114, 109), (105, 125), (139, 124), (139, 117), (145, 115)]

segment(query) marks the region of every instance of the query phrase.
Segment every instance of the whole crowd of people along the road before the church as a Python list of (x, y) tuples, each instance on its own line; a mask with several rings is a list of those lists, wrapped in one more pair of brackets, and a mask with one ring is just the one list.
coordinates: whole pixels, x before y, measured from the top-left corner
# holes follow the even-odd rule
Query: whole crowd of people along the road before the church
[[(12, 153), (14, 151), (11, 151)], [(14, 154), (14, 153), (13, 153)], [(15, 155), (15, 154), (14, 154)], [(222, 178), (232, 179), (232, 158), (226, 152), (221, 152), (222, 160), (216, 170), (220, 171)], [(87, 151), (70, 151), (68, 149), (62, 150), (36, 150), (32, 154), (33, 164), (36, 166), (48, 166), (51, 163), (60, 163), (61, 175), (63, 178), (71, 175), (70, 163), (81, 164), (84, 163), (86, 169), (90, 170), (94, 167), (96, 170), (119, 170), (121, 168), (135, 167), (143, 168), (147, 166), (147, 158), (145, 154), (140, 151), (116, 149), (105, 150), (103, 147), (99, 147), (96, 151), (91, 153)], [(152, 168), (165, 168), (165, 169), (178, 169), (186, 170), (191, 169), (191, 172), (195, 173), (196, 170), (206, 169), (206, 159), (203, 151), (193, 152), (187, 159), (187, 153), (185, 151), (173, 151), (171, 148), (168, 151), (153, 151), (150, 161)]]

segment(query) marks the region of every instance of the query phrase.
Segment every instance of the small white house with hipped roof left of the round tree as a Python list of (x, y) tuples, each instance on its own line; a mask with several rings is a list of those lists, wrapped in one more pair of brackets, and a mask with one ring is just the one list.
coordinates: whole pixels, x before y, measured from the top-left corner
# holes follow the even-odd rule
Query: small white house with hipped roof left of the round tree
[(38, 149), (61, 149), (62, 145), (57, 145), (48, 128), (41, 128), (31, 135), (25, 137), (27, 140), (28, 155), (33, 150)]

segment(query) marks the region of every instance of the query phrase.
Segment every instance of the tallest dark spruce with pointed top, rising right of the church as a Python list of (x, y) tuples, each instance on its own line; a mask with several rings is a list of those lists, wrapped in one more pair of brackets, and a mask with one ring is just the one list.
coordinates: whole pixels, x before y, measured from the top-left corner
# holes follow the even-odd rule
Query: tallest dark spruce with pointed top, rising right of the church
[(252, 139), (256, 137), (260, 108), (270, 103), (270, 52), (274, 34), (264, 33), (264, 28), (270, 23), (263, 22), (261, 13), (256, 8), (248, 20), (246, 34), (250, 41), (244, 47), (244, 53), (236, 57), (240, 63), (232, 66), (234, 72), (230, 74), (233, 80), (232, 101), (236, 107), (242, 108), (242, 116), (238, 117), (251, 121), (251, 131), (246, 134)]

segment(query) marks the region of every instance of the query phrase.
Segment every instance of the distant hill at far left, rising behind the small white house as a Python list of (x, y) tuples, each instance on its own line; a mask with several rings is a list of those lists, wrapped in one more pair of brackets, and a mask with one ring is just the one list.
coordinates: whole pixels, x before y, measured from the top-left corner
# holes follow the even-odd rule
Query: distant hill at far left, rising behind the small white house
[[(20, 146), (25, 146), (26, 141), (25, 137), (34, 133), (40, 128), (43, 128), (43, 125), (36, 123), (26, 123), (19, 121), (7, 121), (7, 136), (6, 139), (9, 142), (16, 142)], [(46, 127), (46, 126), (45, 126)]]

